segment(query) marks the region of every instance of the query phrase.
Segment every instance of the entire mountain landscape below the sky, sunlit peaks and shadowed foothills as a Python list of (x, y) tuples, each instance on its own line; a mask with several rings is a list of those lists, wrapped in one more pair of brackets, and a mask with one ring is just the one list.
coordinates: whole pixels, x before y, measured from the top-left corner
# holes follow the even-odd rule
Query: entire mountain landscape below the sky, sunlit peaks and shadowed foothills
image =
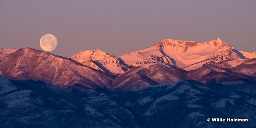
[(255, 84), (256, 53), (219, 38), (164, 39), (119, 57), (0, 49), (0, 127), (256, 127)]

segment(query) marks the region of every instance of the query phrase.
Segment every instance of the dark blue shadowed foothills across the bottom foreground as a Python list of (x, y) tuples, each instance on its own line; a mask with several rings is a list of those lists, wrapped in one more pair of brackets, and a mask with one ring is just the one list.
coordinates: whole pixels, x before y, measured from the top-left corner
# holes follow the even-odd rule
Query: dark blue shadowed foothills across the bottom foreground
[[(183, 81), (102, 92), (67, 93), (37, 80), (0, 77), (0, 127), (256, 127), (253, 84), (227, 87)], [(208, 122), (207, 118), (248, 122)]]

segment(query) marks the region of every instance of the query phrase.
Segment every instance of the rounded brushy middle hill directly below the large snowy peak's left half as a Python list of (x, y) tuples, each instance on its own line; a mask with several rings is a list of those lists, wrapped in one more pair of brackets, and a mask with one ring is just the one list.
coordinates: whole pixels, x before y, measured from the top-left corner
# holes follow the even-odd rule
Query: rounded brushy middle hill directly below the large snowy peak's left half
[(185, 78), (187, 71), (176, 66), (143, 64), (120, 74), (113, 81), (110, 90), (131, 90), (156, 84), (178, 82)]

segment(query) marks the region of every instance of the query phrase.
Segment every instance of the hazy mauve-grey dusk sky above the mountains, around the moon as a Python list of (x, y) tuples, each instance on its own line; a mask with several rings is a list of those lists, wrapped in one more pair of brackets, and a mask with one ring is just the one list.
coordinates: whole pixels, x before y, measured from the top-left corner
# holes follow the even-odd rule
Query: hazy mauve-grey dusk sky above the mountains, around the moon
[(42, 50), (70, 57), (100, 49), (118, 57), (163, 39), (207, 42), (215, 38), (256, 52), (256, 0), (0, 0), (0, 48)]

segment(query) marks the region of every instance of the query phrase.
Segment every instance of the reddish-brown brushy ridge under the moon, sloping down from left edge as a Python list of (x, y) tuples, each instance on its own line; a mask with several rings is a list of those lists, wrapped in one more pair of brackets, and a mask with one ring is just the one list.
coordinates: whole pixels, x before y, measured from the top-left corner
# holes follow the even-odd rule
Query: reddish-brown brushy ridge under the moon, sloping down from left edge
[(64, 89), (74, 84), (88, 89), (107, 87), (112, 81), (111, 75), (106, 76), (104, 72), (35, 49), (0, 54), (0, 75), (12, 79), (37, 79)]

